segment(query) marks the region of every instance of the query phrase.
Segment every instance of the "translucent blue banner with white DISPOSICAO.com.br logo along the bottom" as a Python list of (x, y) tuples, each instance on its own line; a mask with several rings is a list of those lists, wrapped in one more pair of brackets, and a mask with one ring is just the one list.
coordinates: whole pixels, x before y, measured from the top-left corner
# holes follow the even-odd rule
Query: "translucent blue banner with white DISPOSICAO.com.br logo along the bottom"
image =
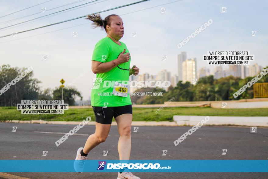
[(0, 172), (268, 172), (268, 160), (0, 160)]

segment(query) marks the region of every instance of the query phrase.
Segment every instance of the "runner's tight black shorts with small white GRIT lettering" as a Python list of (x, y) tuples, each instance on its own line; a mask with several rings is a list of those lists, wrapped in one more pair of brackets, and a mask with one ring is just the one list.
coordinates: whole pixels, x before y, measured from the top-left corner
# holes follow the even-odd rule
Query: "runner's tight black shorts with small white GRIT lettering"
[(92, 106), (96, 116), (96, 122), (101, 124), (112, 124), (113, 117), (116, 118), (121, 114), (132, 114), (132, 105), (117, 107), (99, 107)]

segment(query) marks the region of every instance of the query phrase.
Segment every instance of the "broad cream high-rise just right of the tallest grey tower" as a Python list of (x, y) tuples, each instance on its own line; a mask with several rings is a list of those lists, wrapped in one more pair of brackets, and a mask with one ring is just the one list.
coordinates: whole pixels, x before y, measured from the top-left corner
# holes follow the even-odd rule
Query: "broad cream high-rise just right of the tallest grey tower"
[(193, 78), (197, 78), (196, 58), (186, 59), (182, 62), (182, 82), (192, 83)]

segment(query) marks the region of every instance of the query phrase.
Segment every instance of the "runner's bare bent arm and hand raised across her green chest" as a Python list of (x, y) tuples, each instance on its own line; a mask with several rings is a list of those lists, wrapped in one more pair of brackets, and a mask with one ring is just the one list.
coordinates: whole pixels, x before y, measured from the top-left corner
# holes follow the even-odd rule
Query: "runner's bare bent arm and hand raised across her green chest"
[(99, 62), (92, 60), (91, 70), (94, 74), (96, 73), (105, 73), (113, 69), (115, 66), (118, 66), (121, 63), (128, 62), (130, 59), (129, 53), (125, 53), (125, 49), (120, 53), (117, 59), (114, 59), (110, 62)]

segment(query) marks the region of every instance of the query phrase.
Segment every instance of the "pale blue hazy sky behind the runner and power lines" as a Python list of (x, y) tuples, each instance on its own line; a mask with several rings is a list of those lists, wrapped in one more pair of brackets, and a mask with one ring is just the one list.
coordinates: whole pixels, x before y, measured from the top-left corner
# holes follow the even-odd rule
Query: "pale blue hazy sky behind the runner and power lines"
[[(49, 10), (75, 1), (46, 1), (2, 0), (0, 28), (91, 2), (86, 0)], [(137, 1), (96, 1), (83, 8), (63, 11), (54, 16), (1, 29), (0, 36)], [(37, 5), (40, 3), (43, 4)], [(177, 55), (183, 51), (187, 52), (187, 58), (197, 59), (197, 69), (207, 67), (211, 71), (214, 70), (215, 66), (208, 66), (202, 61), (207, 51), (250, 51), (255, 55), (254, 63), (267, 66), (267, 5), (268, 2), (265, 0), (151, 0), (102, 12), (101, 17), (104, 19), (110, 14), (117, 14), (122, 18), (125, 32), (120, 41), (129, 49), (131, 67), (133, 65), (139, 67), (140, 74), (156, 75), (160, 70), (166, 69), (173, 75), (178, 73)], [(31, 6), (34, 7), (5, 16)], [(42, 7), (46, 8), (44, 13), (41, 13)], [(226, 13), (220, 12), (221, 7), (227, 8)], [(165, 8), (164, 13), (160, 13), (160, 8)], [(3, 23), (34, 13), (38, 14)], [(213, 23), (209, 27), (195, 38), (191, 38), (182, 48), (177, 47), (178, 43), (210, 19)], [(19, 68), (33, 66), (33, 77), (41, 81), (39, 84), (41, 89), (54, 89), (60, 86), (59, 81), (62, 78), (67, 85), (84, 72), (85, 74), (73, 86), (81, 92), (83, 100), (88, 100), (93, 84), (92, 78), (96, 77), (91, 70), (92, 52), (96, 43), (107, 35), (100, 28), (92, 27), (91, 21), (80, 18), (17, 34), (16, 37), (0, 38), (0, 65), (9, 64)], [(256, 36), (251, 36), (252, 30), (256, 31)], [(76, 38), (72, 37), (72, 31), (78, 32)], [(137, 32), (136, 37), (131, 37), (132, 31)], [(43, 55), (48, 55), (46, 61), (43, 60)], [(167, 55), (165, 61), (161, 60), (162, 55)], [(227, 66), (223, 68), (226, 69)]]

